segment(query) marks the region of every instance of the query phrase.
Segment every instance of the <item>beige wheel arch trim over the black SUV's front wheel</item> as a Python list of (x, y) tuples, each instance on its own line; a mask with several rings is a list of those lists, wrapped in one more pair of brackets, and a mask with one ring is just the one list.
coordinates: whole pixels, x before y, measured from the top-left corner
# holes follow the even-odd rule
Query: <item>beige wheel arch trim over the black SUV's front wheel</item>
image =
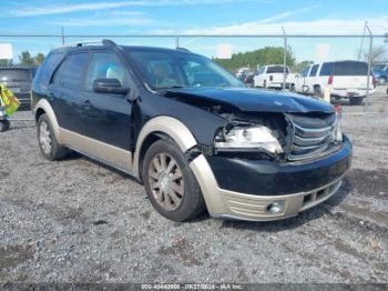
[(182, 121), (166, 116), (149, 120), (137, 137), (133, 154), (133, 175), (139, 180), (141, 180), (141, 167), (145, 152), (152, 143), (160, 139), (171, 139), (182, 152), (197, 144), (193, 133)]

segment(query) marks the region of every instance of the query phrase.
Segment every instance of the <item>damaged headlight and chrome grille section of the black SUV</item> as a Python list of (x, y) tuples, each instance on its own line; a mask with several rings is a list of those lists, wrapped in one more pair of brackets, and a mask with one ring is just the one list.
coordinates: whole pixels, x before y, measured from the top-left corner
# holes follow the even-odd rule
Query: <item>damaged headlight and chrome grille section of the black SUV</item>
[(336, 113), (219, 112), (227, 124), (215, 134), (214, 154), (278, 162), (312, 161), (339, 150)]

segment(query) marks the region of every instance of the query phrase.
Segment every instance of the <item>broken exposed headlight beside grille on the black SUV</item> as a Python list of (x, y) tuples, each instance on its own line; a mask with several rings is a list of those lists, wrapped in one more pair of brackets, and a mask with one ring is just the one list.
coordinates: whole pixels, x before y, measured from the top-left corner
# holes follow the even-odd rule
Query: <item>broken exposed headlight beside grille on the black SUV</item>
[(236, 126), (224, 128), (215, 138), (217, 151), (267, 151), (282, 153), (283, 148), (270, 129), (263, 126)]

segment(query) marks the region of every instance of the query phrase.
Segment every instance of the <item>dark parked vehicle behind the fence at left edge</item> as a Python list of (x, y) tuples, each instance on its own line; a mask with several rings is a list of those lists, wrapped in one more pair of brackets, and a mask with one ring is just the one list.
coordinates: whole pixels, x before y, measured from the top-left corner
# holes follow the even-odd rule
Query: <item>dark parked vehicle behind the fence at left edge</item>
[(21, 109), (30, 109), (31, 82), (35, 71), (35, 67), (0, 67), (0, 82), (18, 97)]

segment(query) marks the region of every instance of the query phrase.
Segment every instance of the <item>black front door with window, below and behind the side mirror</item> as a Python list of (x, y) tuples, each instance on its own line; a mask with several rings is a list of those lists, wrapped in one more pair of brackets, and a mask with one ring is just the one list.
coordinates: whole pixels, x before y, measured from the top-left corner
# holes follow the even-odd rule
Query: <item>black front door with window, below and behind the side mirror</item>
[(134, 84), (124, 60), (113, 51), (93, 52), (84, 82), (84, 126), (93, 140), (130, 150), (133, 143), (131, 129), (132, 104), (126, 96), (93, 91), (96, 79), (116, 79), (134, 93)]

